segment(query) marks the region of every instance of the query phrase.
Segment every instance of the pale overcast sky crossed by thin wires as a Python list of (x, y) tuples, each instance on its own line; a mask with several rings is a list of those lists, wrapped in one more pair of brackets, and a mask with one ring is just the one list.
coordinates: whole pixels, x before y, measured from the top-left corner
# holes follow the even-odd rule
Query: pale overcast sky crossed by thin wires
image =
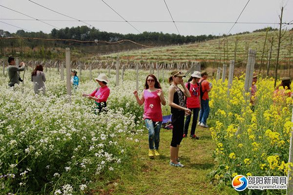
[[(273, 28), (279, 27), (279, 24), (237, 23), (230, 30), (233, 23), (195, 23), (235, 22), (248, 0), (165, 0), (167, 6), (164, 0), (104, 0), (126, 21), (147, 21), (130, 22), (136, 29), (127, 22), (105, 22), (125, 20), (109, 8), (103, 0), (32, 1), (80, 21), (86, 21), (86, 23), (101, 31), (122, 34), (139, 34), (144, 31), (178, 34), (179, 31), (180, 35), (184, 36), (222, 35), (227, 34), (229, 31), (231, 34), (235, 34), (244, 31), (252, 32), (253, 30), (268, 26)], [(0, 29), (11, 33), (20, 30), (20, 28), (33, 32), (42, 31), (50, 33), (54, 27), (49, 24), (57, 27), (57, 29), (87, 25), (83, 22), (74, 21), (74, 19), (49, 11), (29, 0), (0, 0), (0, 5), (14, 9), (38, 20), (71, 20), (44, 21), (48, 23), (45, 24), (37, 20), (31, 20), (31, 18), (27, 16), (0, 6)], [(249, 0), (238, 22), (278, 23), (282, 6), (284, 6), (283, 22), (291, 22), (293, 20), (293, 0)], [(175, 21), (178, 31), (172, 22), (173, 20), (171, 19), (167, 7)], [(293, 28), (293, 24), (287, 25), (287, 27), (291, 29)]]

